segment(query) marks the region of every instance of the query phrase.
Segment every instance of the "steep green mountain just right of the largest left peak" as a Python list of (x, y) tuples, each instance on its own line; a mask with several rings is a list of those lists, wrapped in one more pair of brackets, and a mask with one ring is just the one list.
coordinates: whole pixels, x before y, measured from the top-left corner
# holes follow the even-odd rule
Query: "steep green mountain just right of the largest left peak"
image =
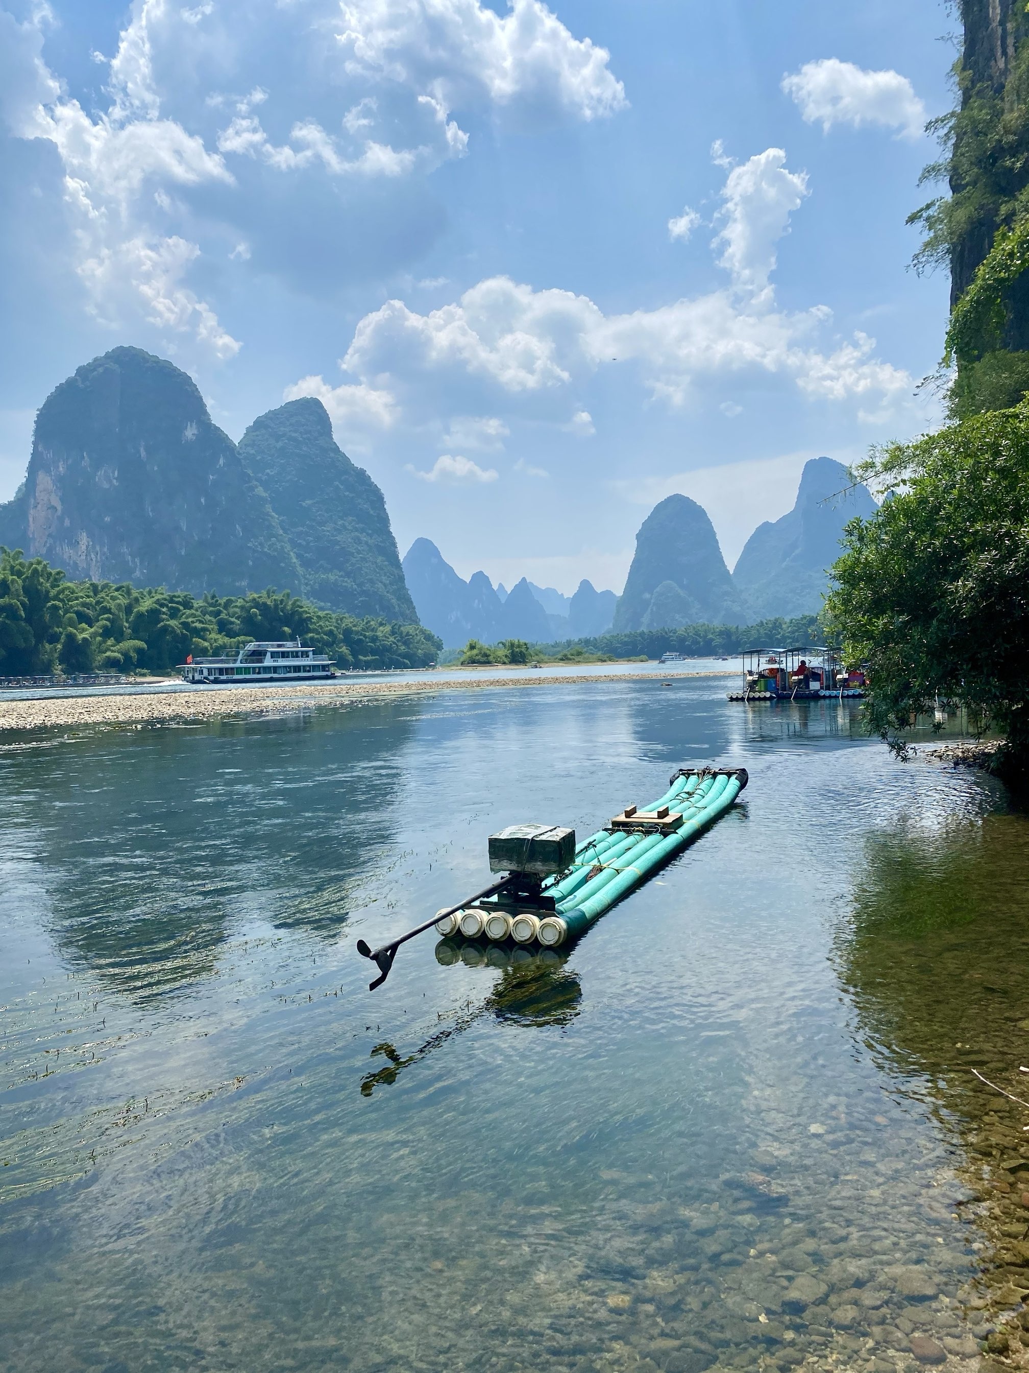
[(417, 622), (383, 493), (336, 446), (321, 401), (305, 397), (261, 415), (239, 453), (272, 501), (309, 600)]

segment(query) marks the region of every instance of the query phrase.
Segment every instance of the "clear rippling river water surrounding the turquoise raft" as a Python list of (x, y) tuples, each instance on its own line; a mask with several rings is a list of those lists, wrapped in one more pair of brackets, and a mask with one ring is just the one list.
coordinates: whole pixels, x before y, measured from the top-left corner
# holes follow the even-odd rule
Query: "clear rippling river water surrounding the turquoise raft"
[[(973, 1361), (1029, 1262), (970, 1072), (1029, 1056), (1029, 825), (855, 721), (712, 678), (0, 736), (0, 1368)], [(744, 803), (567, 960), (427, 935), (366, 991), (493, 828), (713, 759)]]

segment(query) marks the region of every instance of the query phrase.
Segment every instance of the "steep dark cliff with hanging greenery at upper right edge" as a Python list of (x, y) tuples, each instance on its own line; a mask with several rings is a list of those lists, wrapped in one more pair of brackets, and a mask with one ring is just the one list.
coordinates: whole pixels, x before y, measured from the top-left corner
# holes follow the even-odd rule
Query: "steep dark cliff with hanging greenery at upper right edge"
[(910, 217), (925, 229), (915, 264), (951, 272), (952, 419), (1029, 390), (1029, 12), (1017, 0), (960, 0), (960, 12), (958, 107), (930, 125), (944, 155), (922, 176), (951, 194)]

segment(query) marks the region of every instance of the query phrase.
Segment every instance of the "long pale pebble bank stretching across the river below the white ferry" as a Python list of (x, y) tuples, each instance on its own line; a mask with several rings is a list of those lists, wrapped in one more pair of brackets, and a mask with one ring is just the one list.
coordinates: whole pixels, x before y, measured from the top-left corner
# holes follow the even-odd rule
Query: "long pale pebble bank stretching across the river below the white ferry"
[(685, 677), (729, 677), (727, 671), (591, 673), (541, 677), (468, 677), (387, 682), (310, 682), (303, 686), (210, 686), (195, 692), (125, 696), (73, 696), (47, 700), (0, 699), (0, 732), (74, 725), (161, 725), (215, 719), (222, 715), (281, 715), (311, 706), (346, 706), (380, 696), (416, 696), (439, 691), (484, 691), (491, 686), (568, 686), (582, 682), (649, 681), (656, 686)]

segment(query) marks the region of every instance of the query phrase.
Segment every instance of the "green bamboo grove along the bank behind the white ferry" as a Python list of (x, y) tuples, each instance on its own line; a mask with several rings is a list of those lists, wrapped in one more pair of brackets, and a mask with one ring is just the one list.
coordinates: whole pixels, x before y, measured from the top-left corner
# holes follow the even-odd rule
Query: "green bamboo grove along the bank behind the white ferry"
[(166, 673), (188, 654), (235, 654), (251, 638), (296, 638), (344, 667), (427, 667), (440, 641), (421, 625), (320, 610), (289, 592), (199, 600), (128, 582), (67, 581), (21, 551), (0, 549), (0, 677)]

